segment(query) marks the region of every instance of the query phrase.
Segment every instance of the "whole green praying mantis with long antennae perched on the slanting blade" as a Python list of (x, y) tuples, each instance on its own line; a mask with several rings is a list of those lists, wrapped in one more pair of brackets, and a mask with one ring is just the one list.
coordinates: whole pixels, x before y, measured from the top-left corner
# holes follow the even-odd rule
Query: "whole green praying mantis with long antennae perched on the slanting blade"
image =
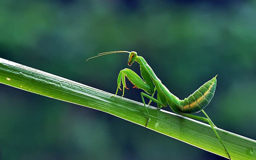
[[(213, 77), (211, 80), (207, 81), (204, 85), (198, 88), (192, 95), (189, 95), (188, 98), (185, 98), (184, 100), (180, 100), (175, 95), (173, 95), (167, 88), (162, 84), (160, 79), (157, 78), (156, 74), (152, 70), (152, 68), (148, 65), (148, 63), (145, 61), (145, 59), (142, 56), (138, 56), (136, 52), (131, 51), (112, 51), (112, 52), (105, 52), (105, 53), (99, 53), (98, 56), (91, 57), (96, 58), (99, 56), (104, 56), (107, 54), (113, 54), (113, 53), (129, 53), (128, 57), (128, 66), (131, 66), (134, 62), (137, 62), (140, 65), (140, 72), (143, 79), (140, 78), (140, 76), (137, 75), (133, 70), (130, 70), (128, 68), (125, 68), (120, 71), (118, 78), (117, 78), (117, 89), (116, 94), (118, 90), (122, 90), (122, 96), (124, 96), (126, 83), (125, 83), (125, 77), (131, 81), (131, 83), (134, 85), (134, 87), (144, 90), (146, 93), (141, 92), (141, 99), (143, 101), (145, 111), (147, 112), (147, 121), (145, 123), (145, 127), (149, 123), (148, 118), (148, 109), (145, 104), (145, 98), (148, 98), (150, 101), (148, 105), (154, 101), (157, 103), (157, 107), (167, 107), (167, 104), (171, 107), (172, 111), (183, 115), (188, 118), (201, 120), (208, 122), (209, 125), (212, 127), (212, 130), (215, 132), (215, 135), (217, 136), (218, 140), (220, 141), (221, 145), (223, 146), (224, 150), (227, 152), (226, 147), (222, 143), (221, 138), (219, 137), (218, 133), (216, 132), (215, 124), (211, 121), (209, 116), (204, 112), (204, 108), (209, 104), (209, 102), (212, 100), (212, 97), (215, 93), (215, 88), (217, 85), (217, 75)], [(87, 59), (87, 61), (89, 60)], [(123, 89), (121, 89), (121, 82)], [(157, 98), (154, 98), (154, 94), (157, 91)], [(113, 95), (113, 96), (115, 96)], [(112, 97), (113, 97), (112, 96)], [(203, 112), (206, 118), (200, 117), (197, 115), (192, 115), (197, 112)], [(227, 155), (230, 158), (230, 154), (227, 152)]]

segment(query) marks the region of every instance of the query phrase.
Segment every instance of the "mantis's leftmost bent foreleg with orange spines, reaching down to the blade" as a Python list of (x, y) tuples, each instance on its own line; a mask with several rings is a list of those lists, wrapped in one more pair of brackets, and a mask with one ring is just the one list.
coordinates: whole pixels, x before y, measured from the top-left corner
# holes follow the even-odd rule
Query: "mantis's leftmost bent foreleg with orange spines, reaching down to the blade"
[[(122, 90), (120, 88), (121, 86), (121, 80), (122, 80), (122, 85), (123, 85), (123, 94), (125, 93), (125, 88), (126, 84), (125, 84), (125, 77), (128, 78), (129, 81), (131, 81), (131, 83), (137, 87), (140, 88), (142, 90), (144, 90), (146, 93), (148, 94), (152, 94), (154, 93), (154, 87), (152, 88), (151, 86), (149, 86), (145, 81), (143, 81), (143, 79), (140, 78), (140, 76), (137, 75), (137, 73), (135, 73), (133, 70), (130, 70), (128, 68), (125, 68), (123, 70), (120, 71), (118, 78), (117, 78), (117, 89), (116, 89), (116, 94), (118, 92), (118, 89)], [(127, 88), (128, 89), (128, 88)], [(114, 95), (113, 95), (114, 96)]]

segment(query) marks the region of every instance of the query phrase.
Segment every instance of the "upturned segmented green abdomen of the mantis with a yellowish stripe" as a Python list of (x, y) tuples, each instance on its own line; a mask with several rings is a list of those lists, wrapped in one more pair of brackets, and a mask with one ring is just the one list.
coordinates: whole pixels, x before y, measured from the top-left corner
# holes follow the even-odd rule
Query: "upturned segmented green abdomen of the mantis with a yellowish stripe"
[(188, 98), (182, 100), (183, 102), (181, 104), (183, 105), (179, 106), (181, 112), (194, 114), (204, 109), (210, 103), (215, 93), (217, 85), (216, 77), (217, 76), (207, 81), (204, 85), (198, 88), (198, 90), (192, 93), (192, 95), (189, 95)]

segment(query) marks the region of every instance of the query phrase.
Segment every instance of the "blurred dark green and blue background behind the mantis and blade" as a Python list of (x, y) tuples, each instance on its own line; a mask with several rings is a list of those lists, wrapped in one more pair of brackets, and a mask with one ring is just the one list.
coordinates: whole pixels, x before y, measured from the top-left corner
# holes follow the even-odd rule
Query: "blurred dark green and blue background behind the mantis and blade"
[[(1, 0), (0, 57), (115, 93), (128, 55), (86, 59), (137, 51), (180, 99), (218, 74), (205, 111), (221, 129), (256, 139), (255, 15), (253, 0)], [(140, 72), (135, 63), (129, 68)], [(141, 102), (141, 91), (126, 90), (125, 97)], [(6, 160), (224, 159), (3, 84), (0, 150)]]

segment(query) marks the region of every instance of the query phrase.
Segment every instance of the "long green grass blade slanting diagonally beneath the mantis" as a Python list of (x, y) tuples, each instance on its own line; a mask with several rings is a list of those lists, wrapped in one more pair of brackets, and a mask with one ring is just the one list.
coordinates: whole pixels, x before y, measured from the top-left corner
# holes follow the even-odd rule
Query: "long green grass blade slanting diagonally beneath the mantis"
[[(143, 127), (146, 123), (145, 108), (139, 102), (120, 96), (111, 98), (111, 93), (1, 58), (0, 83), (107, 112)], [(150, 106), (148, 112), (148, 129), (227, 157), (209, 125)], [(256, 160), (255, 140), (216, 130), (233, 160)]]

